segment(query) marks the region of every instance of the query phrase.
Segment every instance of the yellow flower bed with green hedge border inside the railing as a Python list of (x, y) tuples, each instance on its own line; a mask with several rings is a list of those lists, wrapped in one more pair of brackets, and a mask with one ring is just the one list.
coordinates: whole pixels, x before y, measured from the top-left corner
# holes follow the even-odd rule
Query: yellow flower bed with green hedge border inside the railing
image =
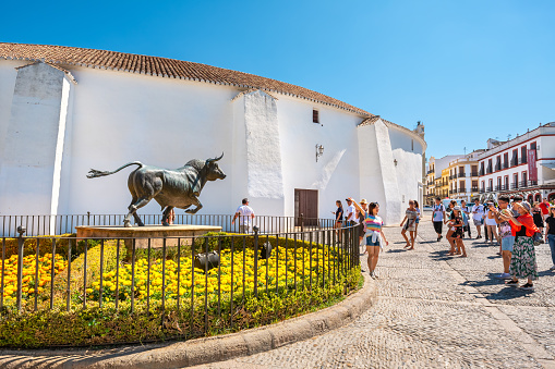
[[(92, 346), (236, 332), (333, 305), (361, 286), (360, 268), (348, 268), (348, 256), (337, 247), (264, 236), (260, 241), (270, 243), (273, 253), (262, 259), (260, 251), (255, 257), (253, 236), (240, 241), (233, 246), (229, 236), (207, 237), (197, 238), (193, 249), (137, 249), (133, 265), (121, 261), (124, 247), (116, 262), (116, 242), (105, 242), (88, 249), (87, 268), (85, 254), (76, 258), (71, 275), (57, 255), (53, 286), (40, 274), (43, 295), (55, 291), (53, 309), (47, 308), (50, 295), (45, 295), (45, 304), (33, 311), (29, 290), (21, 311), (4, 304), (0, 347)], [(194, 268), (192, 256), (208, 249), (219, 251), (220, 263), (205, 273)], [(50, 270), (49, 259), (51, 255), (39, 259), (40, 270)], [(13, 274), (16, 256), (10, 260), (7, 272)], [(27, 261), (28, 272), (33, 261)]]

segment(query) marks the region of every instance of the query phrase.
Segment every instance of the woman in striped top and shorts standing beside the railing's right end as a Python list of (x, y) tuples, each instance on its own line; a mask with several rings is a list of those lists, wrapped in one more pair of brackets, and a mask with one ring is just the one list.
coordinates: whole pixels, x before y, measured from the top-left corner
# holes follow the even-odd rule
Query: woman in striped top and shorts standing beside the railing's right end
[[(383, 243), (385, 243), (386, 246), (389, 245), (385, 237), (384, 232), (382, 231), (384, 221), (382, 220), (382, 218), (377, 216), (377, 212), (379, 211), (379, 205), (377, 202), (370, 202), (367, 211), (364, 211), (364, 209), (362, 209), (354, 200), (352, 202), (359, 209), (360, 212), (364, 213), (364, 222), (366, 223), (366, 250), (369, 253), (369, 272), (370, 276), (377, 280), (375, 269), (377, 266), (379, 250), (384, 248)], [(381, 239), (383, 239), (383, 242)]]

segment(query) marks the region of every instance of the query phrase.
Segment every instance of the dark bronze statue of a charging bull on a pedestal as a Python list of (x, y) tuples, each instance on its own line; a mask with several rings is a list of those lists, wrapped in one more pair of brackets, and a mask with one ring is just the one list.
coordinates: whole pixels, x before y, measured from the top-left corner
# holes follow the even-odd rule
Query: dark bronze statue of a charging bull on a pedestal
[[(207, 159), (206, 161), (193, 159), (178, 169), (162, 169), (153, 165), (144, 165), (140, 161), (126, 163), (112, 172), (97, 171), (92, 169), (87, 177), (96, 179), (110, 175), (130, 165), (138, 165), (128, 179), (129, 192), (133, 199), (129, 206), (129, 213), (123, 219), (124, 226), (131, 226), (131, 216), (135, 222), (143, 226), (136, 211), (147, 205), (153, 198), (161, 206), (164, 225), (169, 225), (168, 216), (173, 208), (184, 209), (191, 214), (202, 209), (198, 201), (201, 190), (207, 181), (224, 180), (226, 174), (219, 169), (217, 161), (224, 157)], [(192, 205), (195, 209), (189, 209)]]

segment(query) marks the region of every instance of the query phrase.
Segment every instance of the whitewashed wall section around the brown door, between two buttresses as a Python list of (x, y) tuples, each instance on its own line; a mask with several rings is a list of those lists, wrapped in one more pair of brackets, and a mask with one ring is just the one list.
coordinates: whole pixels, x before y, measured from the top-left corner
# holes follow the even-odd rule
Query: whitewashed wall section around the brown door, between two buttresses
[[(285, 212), (294, 214), (294, 189), (317, 189), (319, 217), (333, 217), (335, 201), (360, 198), (357, 125), (362, 119), (342, 110), (278, 96), (278, 120), (285, 188)], [(312, 122), (312, 110), (319, 122)], [(316, 162), (316, 145), (324, 155)]]

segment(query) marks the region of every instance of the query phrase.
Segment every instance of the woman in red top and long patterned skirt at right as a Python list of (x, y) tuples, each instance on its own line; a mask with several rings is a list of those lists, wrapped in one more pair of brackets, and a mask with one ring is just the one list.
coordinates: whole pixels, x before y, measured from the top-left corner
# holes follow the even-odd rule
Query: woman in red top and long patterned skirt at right
[(509, 268), (511, 280), (506, 282), (506, 284), (518, 286), (518, 279), (522, 278), (528, 281), (520, 288), (533, 290), (533, 280), (538, 279), (538, 263), (535, 262), (535, 250), (532, 237), (539, 230), (534, 224), (531, 214), (532, 207), (529, 202), (516, 202), (512, 206), (512, 210), (518, 211), (518, 218), (506, 212), (499, 213), (500, 219), (510, 223), (511, 232), (515, 236)]

